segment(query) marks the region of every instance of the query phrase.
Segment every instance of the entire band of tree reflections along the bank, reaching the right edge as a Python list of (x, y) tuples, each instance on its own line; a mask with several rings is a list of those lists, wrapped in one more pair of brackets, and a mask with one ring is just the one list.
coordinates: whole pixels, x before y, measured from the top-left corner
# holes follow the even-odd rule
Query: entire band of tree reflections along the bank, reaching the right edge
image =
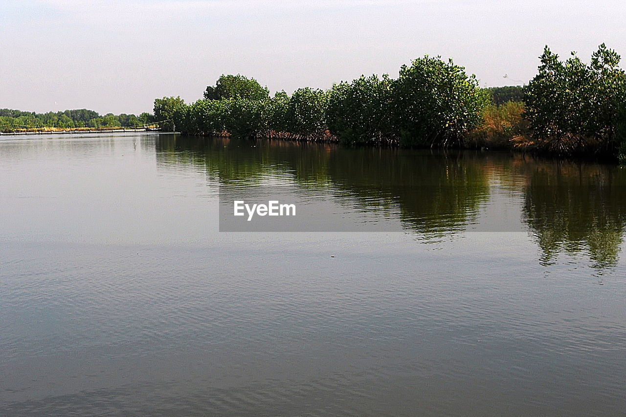
[(626, 173), (613, 166), (280, 140), (160, 136), (156, 146), (159, 163), (194, 164), (222, 184), (285, 178), (364, 210), (399, 213), (407, 228), (426, 238), (463, 230), (496, 179), (523, 191), (523, 217), (544, 264), (559, 253), (587, 252), (598, 267), (613, 266), (626, 226)]

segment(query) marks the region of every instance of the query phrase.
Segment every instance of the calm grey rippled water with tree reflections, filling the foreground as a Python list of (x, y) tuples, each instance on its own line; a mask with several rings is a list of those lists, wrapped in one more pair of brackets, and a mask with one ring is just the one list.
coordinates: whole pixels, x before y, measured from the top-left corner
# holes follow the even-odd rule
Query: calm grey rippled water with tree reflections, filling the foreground
[[(389, 231), (218, 231), (219, 191), (275, 184)], [(5, 138), (0, 415), (625, 415), (625, 190), (509, 154)]]

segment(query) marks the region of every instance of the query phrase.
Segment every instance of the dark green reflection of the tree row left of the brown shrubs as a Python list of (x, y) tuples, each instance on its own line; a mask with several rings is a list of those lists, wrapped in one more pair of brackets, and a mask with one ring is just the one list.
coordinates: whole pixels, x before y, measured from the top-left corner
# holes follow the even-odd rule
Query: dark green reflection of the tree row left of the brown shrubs
[(173, 139), (163, 136), (161, 156), (195, 161), (222, 184), (252, 186), (289, 174), (304, 188), (327, 189), (338, 203), (364, 210), (399, 212), (419, 233), (442, 236), (460, 231), (488, 197), (480, 158), (473, 153), (431, 153), (391, 148), (346, 149), (332, 144), (289, 141)]

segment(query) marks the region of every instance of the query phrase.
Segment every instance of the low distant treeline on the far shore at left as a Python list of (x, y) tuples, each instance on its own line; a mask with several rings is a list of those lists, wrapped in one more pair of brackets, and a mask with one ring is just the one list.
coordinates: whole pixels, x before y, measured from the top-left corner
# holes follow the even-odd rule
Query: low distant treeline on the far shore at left
[(153, 123), (150, 113), (135, 114), (113, 113), (101, 116), (88, 109), (34, 113), (13, 109), (0, 109), (0, 130), (34, 128), (116, 128), (131, 127)]

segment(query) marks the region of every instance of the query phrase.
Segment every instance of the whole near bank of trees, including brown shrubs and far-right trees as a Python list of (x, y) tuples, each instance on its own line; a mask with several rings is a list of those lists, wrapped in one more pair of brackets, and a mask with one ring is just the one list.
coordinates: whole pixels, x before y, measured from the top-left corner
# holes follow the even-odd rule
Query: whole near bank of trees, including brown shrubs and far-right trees
[(483, 89), (453, 61), (425, 56), (398, 78), (361, 76), (331, 89), (270, 96), (254, 78), (223, 75), (203, 99), (155, 100), (162, 127), (241, 138), (346, 144), (521, 148), (573, 156), (626, 155), (626, 75), (602, 44), (590, 64), (547, 47), (525, 87)]

